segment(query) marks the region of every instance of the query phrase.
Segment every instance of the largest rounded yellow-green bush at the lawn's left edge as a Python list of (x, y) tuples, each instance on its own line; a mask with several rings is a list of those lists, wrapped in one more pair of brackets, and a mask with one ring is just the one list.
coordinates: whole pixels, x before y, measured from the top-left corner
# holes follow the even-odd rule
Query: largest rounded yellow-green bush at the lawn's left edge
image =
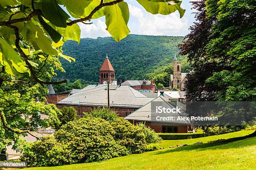
[(67, 122), (53, 137), (26, 145), (20, 160), (27, 161), (28, 166), (89, 163), (156, 150), (159, 145), (152, 143), (156, 141), (160, 140), (150, 129), (122, 117), (113, 122), (87, 117)]

